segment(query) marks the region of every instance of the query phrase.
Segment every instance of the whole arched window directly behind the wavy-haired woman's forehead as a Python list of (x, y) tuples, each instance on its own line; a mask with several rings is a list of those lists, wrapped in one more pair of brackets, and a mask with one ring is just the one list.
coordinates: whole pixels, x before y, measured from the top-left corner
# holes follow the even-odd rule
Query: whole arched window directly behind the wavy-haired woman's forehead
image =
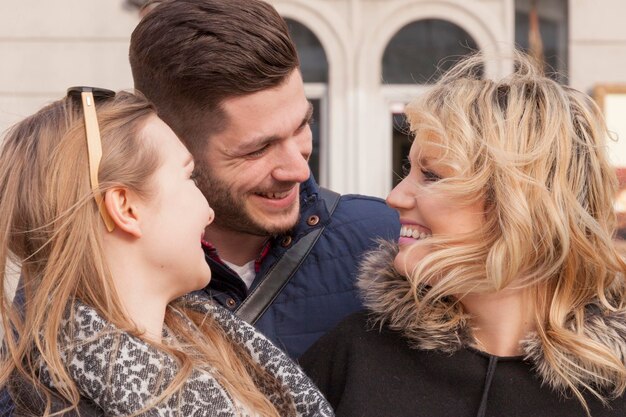
[[(409, 154), (411, 135), (403, 109), (408, 98), (420, 94), (442, 72), (464, 55), (478, 50), (476, 41), (463, 28), (440, 19), (418, 20), (404, 26), (391, 39), (383, 54), (382, 83), (389, 93), (393, 126), (391, 184), (402, 179), (402, 165)], [(400, 90), (393, 85), (402, 84)]]

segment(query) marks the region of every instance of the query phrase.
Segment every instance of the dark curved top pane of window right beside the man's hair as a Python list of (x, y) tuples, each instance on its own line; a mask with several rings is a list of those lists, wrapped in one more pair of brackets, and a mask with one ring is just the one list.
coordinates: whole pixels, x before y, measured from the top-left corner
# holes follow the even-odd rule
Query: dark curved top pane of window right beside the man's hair
[(302, 23), (285, 19), (300, 57), (300, 69), (305, 83), (327, 83), (328, 61), (317, 36)]

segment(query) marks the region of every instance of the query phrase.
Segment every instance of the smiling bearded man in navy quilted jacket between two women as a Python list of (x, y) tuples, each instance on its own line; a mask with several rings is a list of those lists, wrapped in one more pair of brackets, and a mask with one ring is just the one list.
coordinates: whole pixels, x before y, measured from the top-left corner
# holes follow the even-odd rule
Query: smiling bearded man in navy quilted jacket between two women
[(359, 258), (376, 238), (397, 239), (397, 215), (356, 195), (330, 214), (307, 164), (312, 106), (295, 45), (271, 5), (162, 2), (133, 32), (130, 63), (135, 87), (194, 155), (215, 210), (205, 234), (208, 296), (236, 311), (301, 239), (324, 228), (255, 323), (297, 358), (360, 309)]

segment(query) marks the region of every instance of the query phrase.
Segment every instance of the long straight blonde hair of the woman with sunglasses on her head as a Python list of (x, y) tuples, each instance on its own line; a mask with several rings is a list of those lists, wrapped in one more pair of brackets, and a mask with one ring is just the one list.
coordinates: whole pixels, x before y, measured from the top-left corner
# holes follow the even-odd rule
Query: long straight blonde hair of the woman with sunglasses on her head
[[(98, 102), (97, 110), (103, 148), (100, 191), (123, 186), (149, 199), (151, 176), (161, 161), (141, 130), (156, 114), (154, 107), (138, 94), (121, 92)], [(89, 184), (81, 106), (62, 99), (14, 126), (0, 148), (0, 314), (6, 329), (0, 385), (9, 386), (16, 376), (25, 379), (45, 399), (45, 416), (53, 414), (56, 393), (39, 380), (41, 364), (69, 403), (62, 412), (76, 409), (80, 401), (61, 359), (67, 347), (59, 343), (64, 320), (72, 323), (76, 300), (96, 309), (117, 331), (143, 338), (125, 315), (106, 267), (104, 232)], [(7, 296), (8, 260), (21, 265), (23, 305)], [(211, 366), (234, 398), (261, 416), (278, 416), (257, 386), (272, 377), (212, 317), (172, 303), (165, 324), (177, 346), (143, 340), (172, 356), (178, 369), (146, 409), (177, 393), (194, 369)]]

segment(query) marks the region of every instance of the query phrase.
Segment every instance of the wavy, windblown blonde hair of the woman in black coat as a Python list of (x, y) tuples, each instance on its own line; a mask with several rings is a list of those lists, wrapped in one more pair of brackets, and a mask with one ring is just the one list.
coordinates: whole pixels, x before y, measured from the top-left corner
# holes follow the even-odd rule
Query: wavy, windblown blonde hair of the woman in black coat
[[(606, 400), (626, 388), (622, 353), (583, 328), (592, 304), (625, 308), (608, 132), (590, 97), (546, 77), (529, 57), (517, 53), (513, 73), (498, 80), (482, 78), (484, 59), (461, 61), (406, 110), (418, 148), (435, 149), (454, 173), (429, 187), (485, 202), (480, 230), (429, 239), (436, 250), (410, 274), (420, 320), (453, 329), (467, 315), (443, 300), (524, 289), (546, 360), (586, 407), (583, 390)], [(606, 383), (585, 383), (590, 372)]]

